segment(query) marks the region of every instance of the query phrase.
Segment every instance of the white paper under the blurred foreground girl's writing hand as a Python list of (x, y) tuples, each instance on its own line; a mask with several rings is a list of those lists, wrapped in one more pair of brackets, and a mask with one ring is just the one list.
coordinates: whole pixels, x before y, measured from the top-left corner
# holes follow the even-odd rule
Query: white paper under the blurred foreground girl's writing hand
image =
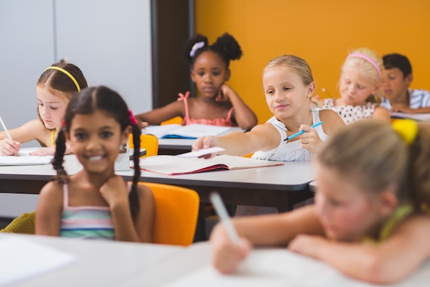
[(324, 262), (297, 255), (285, 249), (263, 249), (252, 251), (234, 275), (222, 275), (214, 267), (207, 266), (166, 286), (369, 287), (374, 285), (350, 279)]

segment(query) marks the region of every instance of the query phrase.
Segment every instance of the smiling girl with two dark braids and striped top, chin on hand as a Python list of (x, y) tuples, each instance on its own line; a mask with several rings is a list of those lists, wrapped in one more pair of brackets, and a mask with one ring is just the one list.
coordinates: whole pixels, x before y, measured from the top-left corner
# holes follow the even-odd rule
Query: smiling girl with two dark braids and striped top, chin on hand
[[(139, 147), (136, 120), (113, 90), (91, 87), (71, 98), (52, 161), (57, 176), (39, 196), (36, 234), (152, 242), (155, 201), (150, 189), (137, 185), (139, 149), (134, 153), (133, 184), (114, 172), (130, 132)], [(63, 168), (66, 141), (83, 167), (73, 176)]]

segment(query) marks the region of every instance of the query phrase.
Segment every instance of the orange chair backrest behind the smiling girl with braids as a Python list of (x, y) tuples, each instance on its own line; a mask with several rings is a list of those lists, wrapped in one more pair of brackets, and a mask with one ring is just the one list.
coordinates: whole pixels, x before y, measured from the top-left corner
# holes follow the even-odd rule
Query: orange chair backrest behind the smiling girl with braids
[(155, 198), (154, 243), (188, 246), (194, 240), (199, 195), (192, 189), (169, 184), (139, 182)]

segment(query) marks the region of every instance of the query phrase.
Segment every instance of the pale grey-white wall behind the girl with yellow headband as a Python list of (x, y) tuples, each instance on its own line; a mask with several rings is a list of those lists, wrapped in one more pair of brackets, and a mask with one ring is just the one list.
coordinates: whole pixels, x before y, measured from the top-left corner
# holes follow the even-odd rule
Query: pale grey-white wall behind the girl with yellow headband
[[(63, 57), (80, 67), (89, 85), (119, 92), (135, 114), (150, 110), (150, 32), (150, 0), (0, 0), (5, 125), (12, 129), (36, 118), (36, 82)], [(37, 196), (0, 193), (0, 216), (34, 210)]]

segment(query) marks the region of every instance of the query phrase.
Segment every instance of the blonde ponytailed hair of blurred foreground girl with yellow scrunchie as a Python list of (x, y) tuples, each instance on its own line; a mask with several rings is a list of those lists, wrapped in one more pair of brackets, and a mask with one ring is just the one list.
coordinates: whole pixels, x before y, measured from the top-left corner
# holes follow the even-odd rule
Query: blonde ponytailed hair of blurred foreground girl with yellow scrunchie
[(430, 125), (417, 125), (408, 144), (389, 123), (359, 120), (330, 137), (317, 162), (363, 191), (378, 194), (394, 187), (400, 203), (410, 202), (416, 210), (430, 206)]

